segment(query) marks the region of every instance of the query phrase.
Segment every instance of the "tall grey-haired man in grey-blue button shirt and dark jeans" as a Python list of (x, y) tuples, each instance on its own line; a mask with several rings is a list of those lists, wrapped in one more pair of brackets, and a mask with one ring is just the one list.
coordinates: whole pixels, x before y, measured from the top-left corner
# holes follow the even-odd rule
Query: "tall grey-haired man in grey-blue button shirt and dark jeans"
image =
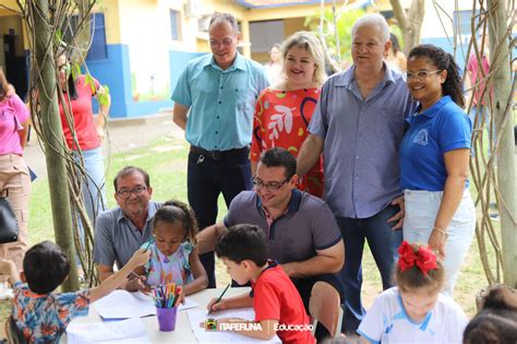
[(323, 85), (298, 155), (298, 175), (324, 156), (325, 200), (345, 240), (347, 332), (364, 316), (361, 261), (364, 241), (375, 259), (383, 288), (392, 286), (396, 248), (401, 242), (404, 198), (398, 147), (412, 100), (401, 75), (383, 61), (389, 29), (380, 14), (359, 19), (352, 28), (353, 66)]

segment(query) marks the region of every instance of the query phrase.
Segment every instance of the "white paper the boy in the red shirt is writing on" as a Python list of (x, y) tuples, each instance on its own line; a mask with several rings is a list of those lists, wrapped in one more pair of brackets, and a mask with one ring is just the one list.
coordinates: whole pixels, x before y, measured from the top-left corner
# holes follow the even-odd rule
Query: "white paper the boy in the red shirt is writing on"
[(206, 309), (191, 309), (188, 310), (187, 313), (189, 315), (190, 325), (199, 343), (281, 343), (277, 335), (275, 335), (270, 341), (261, 341), (250, 339), (235, 332), (206, 331), (201, 327), (201, 323), (204, 323), (208, 318), (242, 318), (247, 320), (253, 320), (255, 319), (255, 312), (253, 311), (253, 308), (218, 311), (217, 313), (212, 313), (209, 317), (206, 312)]

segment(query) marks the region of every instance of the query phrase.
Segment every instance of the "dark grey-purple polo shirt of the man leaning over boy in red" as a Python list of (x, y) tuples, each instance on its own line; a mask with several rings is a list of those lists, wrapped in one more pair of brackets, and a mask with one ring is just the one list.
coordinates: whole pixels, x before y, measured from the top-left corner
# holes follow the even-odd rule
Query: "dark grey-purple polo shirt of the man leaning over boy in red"
[(278, 263), (305, 261), (341, 240), (334, 214), (325, 201), (294, 189), (284, 215), (269, 225), (261, 198), (254, 191), (242, 191), (230, 204), (225, 226), (252, 224), (266, 236), (269, 259)]

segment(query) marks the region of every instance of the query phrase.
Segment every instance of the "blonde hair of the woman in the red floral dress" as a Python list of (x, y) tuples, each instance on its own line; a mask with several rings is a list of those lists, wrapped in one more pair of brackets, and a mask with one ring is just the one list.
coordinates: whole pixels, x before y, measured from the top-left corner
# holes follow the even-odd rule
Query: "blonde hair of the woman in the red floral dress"
[(317, 39), (314, 34), (306, 31), (300, 31), (292, 34), (281, 45), (280, 51), (282, 63), (286, 60), (287, 52), (292, 47), (303, 48), (312, 56), (314, 64), (316, 64), (313, 81), (321, 86), (325, 82), (327, 75), (325, 74), (325, 56), (320, 39)]

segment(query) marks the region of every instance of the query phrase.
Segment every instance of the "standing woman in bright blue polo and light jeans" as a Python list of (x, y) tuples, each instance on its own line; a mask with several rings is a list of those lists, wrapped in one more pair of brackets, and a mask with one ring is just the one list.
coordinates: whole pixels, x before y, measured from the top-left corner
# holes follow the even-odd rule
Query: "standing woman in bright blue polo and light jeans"
[(442, 257), (443, 293), (452, 297), (476, 227), (468, 190), (471, 123), (461, 109), (458, 67), (441, 48), (420, 45), (410, 51), (407, 84), (420, 105), (400, 145), (404, 239), (428, 242)]

